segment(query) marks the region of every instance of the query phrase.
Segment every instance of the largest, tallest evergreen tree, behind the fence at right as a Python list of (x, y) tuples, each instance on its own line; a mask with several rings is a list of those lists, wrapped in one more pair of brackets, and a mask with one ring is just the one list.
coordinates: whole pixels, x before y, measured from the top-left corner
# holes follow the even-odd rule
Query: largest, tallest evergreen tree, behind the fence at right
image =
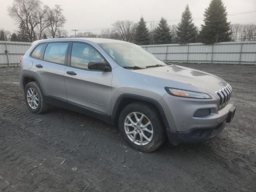
[(200, 31), (200, 39), (204, 43), (230, 41), (230, 22), (222, 0), (212, 0), (204, 12), (204, 25)]

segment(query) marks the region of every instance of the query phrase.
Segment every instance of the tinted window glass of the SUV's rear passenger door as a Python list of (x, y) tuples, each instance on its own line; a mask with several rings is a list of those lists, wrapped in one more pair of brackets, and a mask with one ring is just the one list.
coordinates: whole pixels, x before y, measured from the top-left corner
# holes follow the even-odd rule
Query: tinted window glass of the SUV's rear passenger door
[(44, 52), (44, 60), (64, 64), (68, 42), (49, 43)]

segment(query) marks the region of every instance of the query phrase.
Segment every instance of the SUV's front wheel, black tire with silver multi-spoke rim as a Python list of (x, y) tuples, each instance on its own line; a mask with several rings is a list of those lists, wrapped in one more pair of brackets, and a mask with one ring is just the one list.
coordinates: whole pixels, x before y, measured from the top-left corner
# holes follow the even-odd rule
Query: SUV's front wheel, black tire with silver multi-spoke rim
[(166, 140), (158, 110), (143, 102), (134, 102), (124, 107), (119, 116), (118, 128), (129, 146), (142, 152), (152, 152)]

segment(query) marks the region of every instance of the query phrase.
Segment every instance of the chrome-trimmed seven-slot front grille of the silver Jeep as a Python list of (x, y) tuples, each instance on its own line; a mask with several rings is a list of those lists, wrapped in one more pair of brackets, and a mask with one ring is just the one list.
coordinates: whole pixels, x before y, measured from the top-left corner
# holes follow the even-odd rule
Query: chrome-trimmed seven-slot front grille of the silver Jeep
[(226, 106), (228, 101), (231, 98), (231, 93), (232, 93), (232, 87), (230, 84), (227, 84), (226, 87), (222, 88), (221, 90), (218, 90), (215, 92), (218, 98), (218, 109), (223, 108)]

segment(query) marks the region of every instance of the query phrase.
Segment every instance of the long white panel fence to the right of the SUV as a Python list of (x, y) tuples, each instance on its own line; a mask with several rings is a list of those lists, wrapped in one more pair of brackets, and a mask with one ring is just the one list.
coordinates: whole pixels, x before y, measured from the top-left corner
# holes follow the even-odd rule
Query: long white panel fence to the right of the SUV
[(168, 62), (256, 64), (256, 41), (143, 45), (148, 52)]

